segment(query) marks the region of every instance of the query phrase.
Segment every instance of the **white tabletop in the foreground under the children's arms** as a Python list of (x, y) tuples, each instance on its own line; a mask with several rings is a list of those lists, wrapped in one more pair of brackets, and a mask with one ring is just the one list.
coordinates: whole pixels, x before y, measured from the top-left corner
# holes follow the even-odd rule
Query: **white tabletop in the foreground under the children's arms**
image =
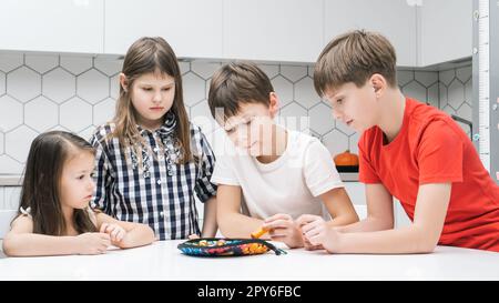
[[(6, 257), (0, 280), (499, 280), (499, 253), (438, 246), (431, 254), (326, 254), (287, 250), (241, 257), (194, 257), (160, 241), (102, 255)], [(282, 243), (278, 243), (283, 248)]]

